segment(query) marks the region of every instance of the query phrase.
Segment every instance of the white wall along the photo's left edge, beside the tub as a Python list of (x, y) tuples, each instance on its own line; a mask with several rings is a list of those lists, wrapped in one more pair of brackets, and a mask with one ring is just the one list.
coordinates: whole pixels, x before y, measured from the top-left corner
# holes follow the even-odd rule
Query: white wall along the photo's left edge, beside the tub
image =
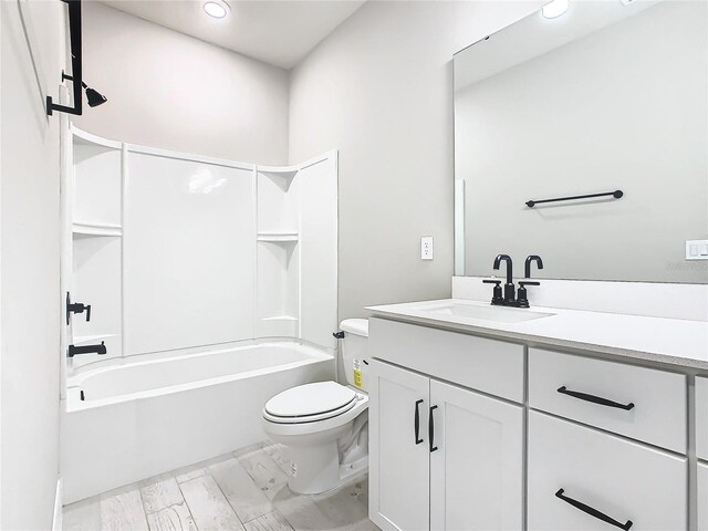
[(18, 2), (0, 2), (0, 528), (52, 528), (59, 473), (59, 125), (65, 4), (29, 6), (34, 64)]

